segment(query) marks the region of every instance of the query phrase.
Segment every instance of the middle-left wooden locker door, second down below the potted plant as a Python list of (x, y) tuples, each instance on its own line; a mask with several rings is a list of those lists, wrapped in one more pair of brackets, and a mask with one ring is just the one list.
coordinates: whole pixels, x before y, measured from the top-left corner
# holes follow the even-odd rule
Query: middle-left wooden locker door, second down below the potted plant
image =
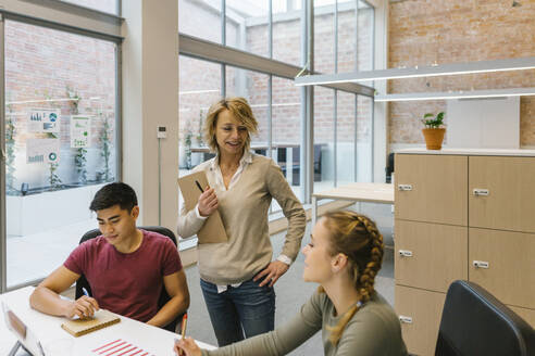
[(398, 220), (394, 236), (396, 284), (446, 293), (468, 279), (466, 227)]

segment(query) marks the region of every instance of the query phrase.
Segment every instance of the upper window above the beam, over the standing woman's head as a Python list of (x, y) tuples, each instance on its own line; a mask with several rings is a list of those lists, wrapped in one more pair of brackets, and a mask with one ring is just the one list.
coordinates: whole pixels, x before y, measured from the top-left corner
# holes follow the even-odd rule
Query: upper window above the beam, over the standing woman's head
[(272, 43), (269, 0), (226, 0), (224, 14), (222, 3), (221, 0), (178, 0), (179, 33), (264, 58), (300, 63), (301, 0), (272, 1)]

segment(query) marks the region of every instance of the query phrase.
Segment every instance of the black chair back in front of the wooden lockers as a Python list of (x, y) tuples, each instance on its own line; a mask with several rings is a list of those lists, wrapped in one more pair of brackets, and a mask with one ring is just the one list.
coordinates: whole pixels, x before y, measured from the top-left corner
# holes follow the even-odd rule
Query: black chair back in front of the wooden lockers
[(534, 356), (535, 331), (480, 285), (458, 280), (446, 295), (435, 356)]

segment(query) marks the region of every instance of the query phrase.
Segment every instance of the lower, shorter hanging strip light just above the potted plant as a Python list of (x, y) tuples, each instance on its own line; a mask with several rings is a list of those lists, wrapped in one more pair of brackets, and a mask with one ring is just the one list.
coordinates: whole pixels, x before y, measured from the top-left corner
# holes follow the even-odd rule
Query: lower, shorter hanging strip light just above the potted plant
[(535, 96), (535, 88), (513, 88), (513, 89), (486, 89), (469, 91), (447, 91), (447, 92), (411, 92), (399, 94), (377, 94), (375, 102), (389, 101), (424, 101), (424, 100), (450, 100), (450, 99), (475, 99), (475, 98), (503, 98), (503, 97), (530, 97)]

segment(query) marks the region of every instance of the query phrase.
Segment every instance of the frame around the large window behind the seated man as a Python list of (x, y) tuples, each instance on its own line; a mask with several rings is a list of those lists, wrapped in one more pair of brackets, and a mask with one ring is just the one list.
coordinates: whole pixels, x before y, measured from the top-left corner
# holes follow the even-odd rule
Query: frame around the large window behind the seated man
[[(5, 93), (5, 21), (15, 21), (34, 26), (114, 42), (115, 52), (115, 127), (122, 127), (122, 42), (123, 18), (59, 0), (26, 2), (0, 0), (0, 92)], [(0, 292), (33, 285), (42, 279), (10, 285), (8, 289), (7, 256), (7, 198), (5, 198), (5, 96), (0, 96)], [(122, 180), (122, 132), (115, 129), (116, 179)]]

